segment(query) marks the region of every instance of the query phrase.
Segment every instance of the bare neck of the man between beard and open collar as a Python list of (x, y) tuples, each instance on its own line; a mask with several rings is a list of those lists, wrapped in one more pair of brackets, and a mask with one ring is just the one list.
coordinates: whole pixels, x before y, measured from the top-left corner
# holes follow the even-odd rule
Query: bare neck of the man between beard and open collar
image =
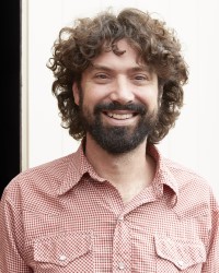
[(146, 154), (146, 146), (147, 140), (131, 152), (113, 155), (87, 136), (85, 155), (97, 175), (111, 182), (124, 202), (128, 202), (149, 186), (154, 176), (154, 162)]

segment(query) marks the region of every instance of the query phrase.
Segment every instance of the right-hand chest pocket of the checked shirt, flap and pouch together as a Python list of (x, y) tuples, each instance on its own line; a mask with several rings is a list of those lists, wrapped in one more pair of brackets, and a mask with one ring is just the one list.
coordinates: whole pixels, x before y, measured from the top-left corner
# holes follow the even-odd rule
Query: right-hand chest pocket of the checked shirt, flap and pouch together
[[(201, 272), (206, 250), (199, 240), (155, 236), (158, 272)], [(191, 270), (189, 270), (191, 268)]]

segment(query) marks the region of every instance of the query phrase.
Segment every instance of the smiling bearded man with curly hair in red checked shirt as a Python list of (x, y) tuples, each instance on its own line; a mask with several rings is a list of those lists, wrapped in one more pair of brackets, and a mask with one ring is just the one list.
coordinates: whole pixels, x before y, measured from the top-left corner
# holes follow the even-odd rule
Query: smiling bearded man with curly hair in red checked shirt
[(187, 81), (174, 33), (136, 9), (104, 12), (61, 29), (48, 68), (82, 142), (4, 190), (1, 272), (219, 272), (210, 187), (154, 146)]

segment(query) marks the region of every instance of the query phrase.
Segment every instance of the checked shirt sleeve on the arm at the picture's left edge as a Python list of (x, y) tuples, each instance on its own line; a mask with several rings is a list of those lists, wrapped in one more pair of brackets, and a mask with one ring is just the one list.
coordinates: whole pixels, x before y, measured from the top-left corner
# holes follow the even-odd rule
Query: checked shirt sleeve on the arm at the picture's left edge
[[(5, 190), (4, 190), (5, 191)], [(0, 201), (0, 273), (31, 273), (21, 253), (21, 210), (3, 193)]]

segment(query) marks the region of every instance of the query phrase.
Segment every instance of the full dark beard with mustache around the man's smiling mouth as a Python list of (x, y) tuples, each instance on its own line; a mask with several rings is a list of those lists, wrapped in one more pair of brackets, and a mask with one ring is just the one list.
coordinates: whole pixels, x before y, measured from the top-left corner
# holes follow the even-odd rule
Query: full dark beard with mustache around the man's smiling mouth
[[(136, 126), (108, 126), (102, 121), (103, 111), (131, 110), (139, 116)], [(135, 150), (154, 130), (158, 110), (150, 112), (142, 104), (97, 104), (93, 112), (83, 105), (80, 97), (80, 115), (84, 130), (110, 154), (124, 154)]]

